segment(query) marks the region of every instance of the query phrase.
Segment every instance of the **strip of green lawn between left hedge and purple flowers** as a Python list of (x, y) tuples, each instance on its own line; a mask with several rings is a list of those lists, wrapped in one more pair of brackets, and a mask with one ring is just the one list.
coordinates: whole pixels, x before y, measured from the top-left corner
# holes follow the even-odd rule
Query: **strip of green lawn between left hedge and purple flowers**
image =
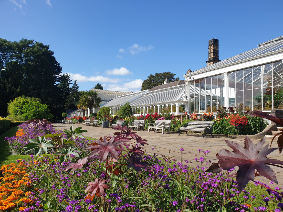
[(18, 127), (11, 127), (8, 131), (0, 136), (0, 166), (15, 163), (18, 159), (27, 159), (29, 155), (9, 155), (8, 145), (5, 137), (13, 137), (16, 135)]

